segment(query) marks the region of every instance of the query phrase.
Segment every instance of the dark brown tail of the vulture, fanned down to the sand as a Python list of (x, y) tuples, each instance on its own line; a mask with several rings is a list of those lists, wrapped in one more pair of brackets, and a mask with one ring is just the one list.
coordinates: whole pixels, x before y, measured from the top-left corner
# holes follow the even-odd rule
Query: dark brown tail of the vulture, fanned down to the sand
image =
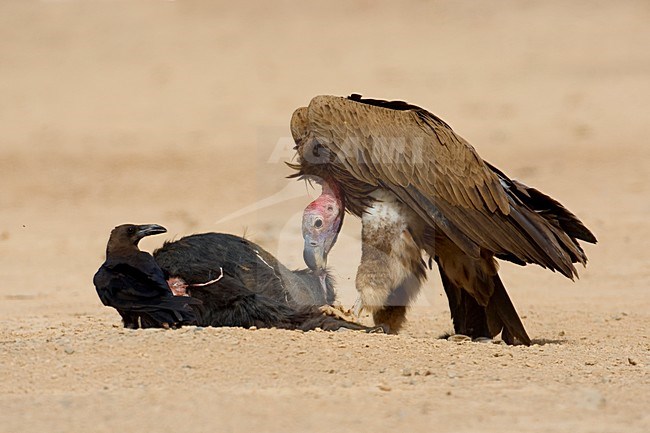
[(472, 338), (495, 337), (524, 344), (530, 338), (521, 323), (501, 279), (492, 254), (483, 251), (473, 259), (448, 239), (437, 239), (436, 261), (449, 297), (449, 308), (457, 333)]

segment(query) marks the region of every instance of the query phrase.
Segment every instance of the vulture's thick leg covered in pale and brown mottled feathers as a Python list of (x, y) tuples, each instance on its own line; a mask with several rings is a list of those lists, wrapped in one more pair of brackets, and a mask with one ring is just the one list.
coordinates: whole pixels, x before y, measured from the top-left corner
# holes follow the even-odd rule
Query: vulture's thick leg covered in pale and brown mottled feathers
[(382, 197), (362, 216), (356, 286), (362, 308), (372, 313), (376, 325), (384, 325), (391, 333), (404, 324), (406, 309), (426, 277), (410, 221), (410, 215), (391, 197)]

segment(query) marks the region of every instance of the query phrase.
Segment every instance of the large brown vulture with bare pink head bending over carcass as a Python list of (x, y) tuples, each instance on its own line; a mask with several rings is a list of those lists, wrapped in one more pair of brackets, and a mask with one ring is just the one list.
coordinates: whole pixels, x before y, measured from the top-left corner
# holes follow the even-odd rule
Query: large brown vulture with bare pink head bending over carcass
[(530, 344), (495, 258), (577, 276), (594, 235), (559, 202), (483, 161), (443, 120), (401, 101), (317, 96), (291, 119), (298, 170), (322, 195), (303, 214), (304, 258), (323, 271), (344, 211), (362, 220), (356, 287), (396, 332), (435, 260), (456, 333)]

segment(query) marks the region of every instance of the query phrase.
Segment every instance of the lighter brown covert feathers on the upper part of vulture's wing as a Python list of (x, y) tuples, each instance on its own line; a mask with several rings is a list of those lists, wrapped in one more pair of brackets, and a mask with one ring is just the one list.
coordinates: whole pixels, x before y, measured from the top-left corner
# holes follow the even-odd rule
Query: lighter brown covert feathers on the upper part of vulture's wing
[[(317, 96), (307, 110), (311, 133), (359, 180), (413, 185), (454, 206), (510, 212), (499, 179), (474, 148), (425, 110), (392, 110), (335, 96)], [(420, 176), (413, 176), (416, 169)]]

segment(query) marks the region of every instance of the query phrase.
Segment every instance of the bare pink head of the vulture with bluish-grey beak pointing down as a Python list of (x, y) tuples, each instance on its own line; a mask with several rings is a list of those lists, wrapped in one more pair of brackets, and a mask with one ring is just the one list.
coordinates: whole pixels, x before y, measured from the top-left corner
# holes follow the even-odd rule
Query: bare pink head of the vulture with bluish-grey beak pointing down
[(309, 269), (322, 272), (343, 223), (344, 204), (338, 187), (325, 181), (323, 192), (302, 214), (303, 259)]

